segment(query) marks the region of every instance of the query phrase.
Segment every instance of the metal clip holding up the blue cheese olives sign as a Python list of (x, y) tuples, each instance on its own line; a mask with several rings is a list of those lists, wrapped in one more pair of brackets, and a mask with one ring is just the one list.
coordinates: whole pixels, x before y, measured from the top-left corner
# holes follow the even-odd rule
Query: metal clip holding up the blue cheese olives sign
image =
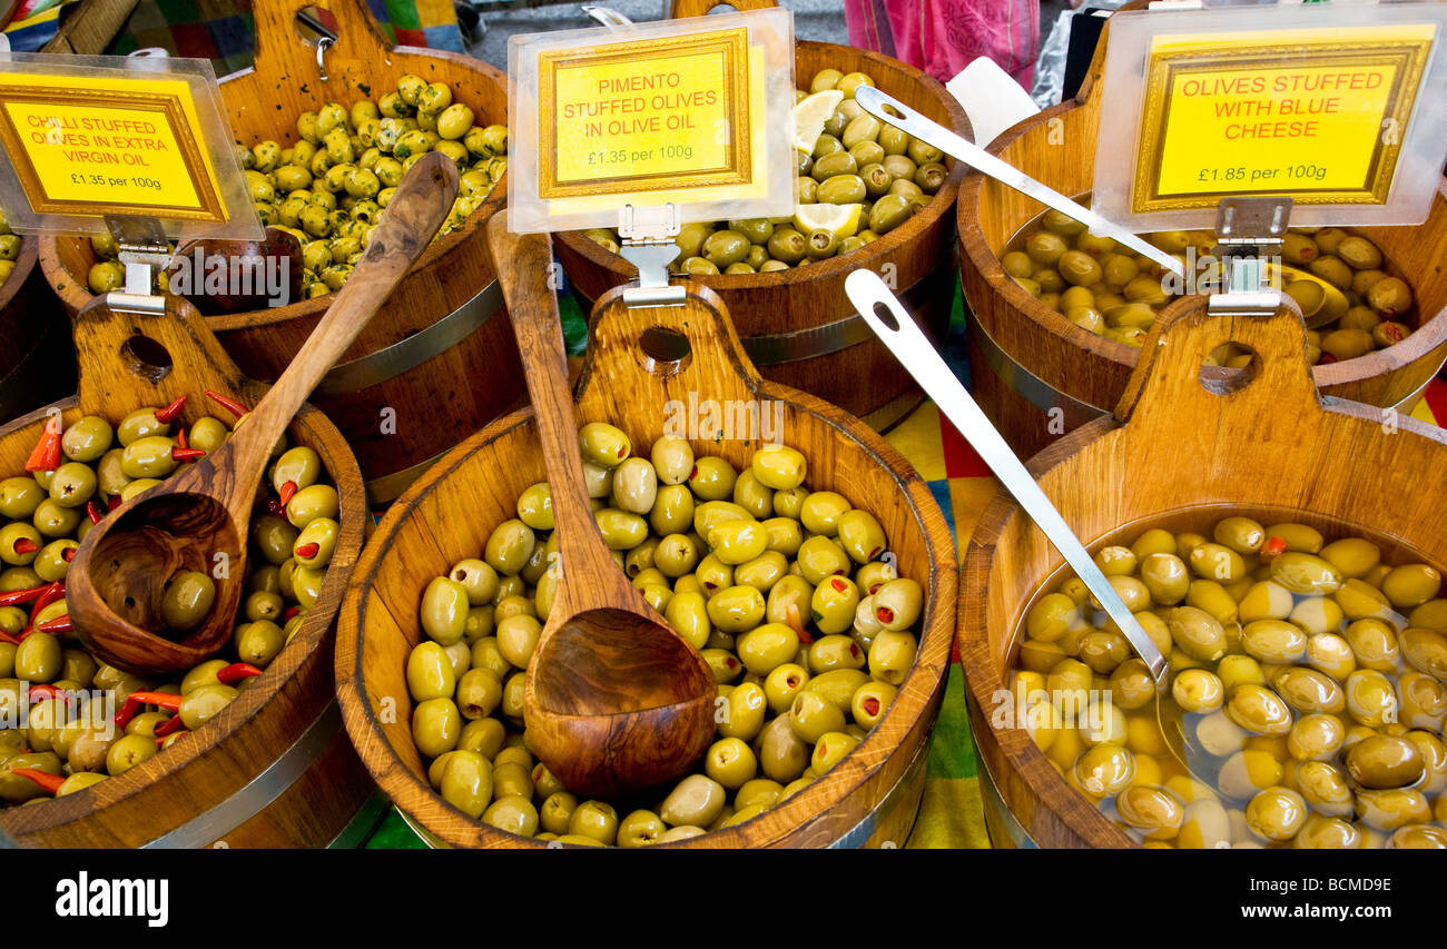
[(1289, 197), (1221, 198), (1215, 216), (1215, 255), (1226, 292), (1211, 294), (1213, 317), (1266, 317), (1281, 307), (1270, 288), (1268, 256), (1279, 256), (1295, 201)]

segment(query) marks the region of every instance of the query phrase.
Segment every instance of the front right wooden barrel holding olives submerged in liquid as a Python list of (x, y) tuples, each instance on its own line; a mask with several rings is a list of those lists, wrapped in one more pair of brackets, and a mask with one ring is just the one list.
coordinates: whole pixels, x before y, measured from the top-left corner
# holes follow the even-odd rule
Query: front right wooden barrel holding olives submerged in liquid
[[(1243, 385), (1201, 385), (1220, 343), (1249, 346), (1260, 367)], [(1263, 524), (1301, 521), (1357, 532), (1393, 558), (1447, 564), (1441, 499), (1447, 434), (1382, 411), (1323, 404), (1305, 360), (1295, 304), (1273, 317), (1213, 317), (1205, 299), (1176, 301), (1156, 320), (1114, 415), (1095, 420), (1030, 460), (1030, 472), (1075, 534), (1094, 547), (1150, 527), (1200, 531), (1226, 514)], [(1242, 376), (1236, 376), (1242, 379)], [(1147, 474), (1143, 474), (1147, 473)], [(1363, 499), (1370, 498), (1370, 503)], [(1402, 560), (1395, 560), (1401, 563)], [(1078, 796), (1013, 716), (998, 715), (1014, 631), (1061, 556), (1017, 505), (997, 496), (965, 553), (959, 657), (997, 845), (1129, 846)]]

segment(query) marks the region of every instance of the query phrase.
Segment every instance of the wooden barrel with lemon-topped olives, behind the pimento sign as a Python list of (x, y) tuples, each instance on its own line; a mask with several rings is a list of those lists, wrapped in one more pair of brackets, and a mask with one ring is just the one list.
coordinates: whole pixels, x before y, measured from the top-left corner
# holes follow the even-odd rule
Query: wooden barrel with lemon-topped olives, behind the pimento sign
[[(674, 0), (673, 16), (702, 16), (713, 0)], [(774, 6), (770, 0), (735, 3), (741, 10)], [(939, 82), (897, 59), (833, 43), (800, 42), (794, 52), (796, 82), (819, 69), (870, 74), (881, 90), (942, 126), (971, 137), (969, 120)], [(951, 174), (935, 198), (915, 217), (874, 243), (846, 256), (774, 273), (680, 278), (724, 298), (744, 350), (765, 379), (803, 389), (886, 430), (920, 401), (919, 386), (844, 292), (844, 278), (865, 268), (890, 282), (928, 333), (942, 340), (955, 301), (951, 208), (965, 168)], [(638, 278), (638, 269), (580, 231), (559, 234), (557, 259), (573, 288), (590, 307), (614, 286)]]

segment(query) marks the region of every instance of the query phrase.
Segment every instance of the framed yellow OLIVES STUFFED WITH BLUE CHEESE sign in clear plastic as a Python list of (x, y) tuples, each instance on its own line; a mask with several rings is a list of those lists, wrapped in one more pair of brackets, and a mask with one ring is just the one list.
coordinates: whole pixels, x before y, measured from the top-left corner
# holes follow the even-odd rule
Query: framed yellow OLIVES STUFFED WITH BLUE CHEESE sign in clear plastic
[(1117, 13), (1091, 205), (1133, 230), (1211, 227), (1224, 197), (1420, 224), (1447, 156), (1444, 33), (1441, 3)]

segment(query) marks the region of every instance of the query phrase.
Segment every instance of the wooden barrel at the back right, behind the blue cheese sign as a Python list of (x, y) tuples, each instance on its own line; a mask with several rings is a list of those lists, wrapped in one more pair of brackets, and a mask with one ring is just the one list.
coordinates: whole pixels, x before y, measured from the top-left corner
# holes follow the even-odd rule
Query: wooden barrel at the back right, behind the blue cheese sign
[[(1092, 188), (1108, 27), (1078, 98), (1000, 135), (990, 152), (1061, 194)], [(1081, 328), (1016, 284), (1000, 265), (1010, 237), (1045, 205), (984, 175), (959, 187), (959, 281), (974, 311), (975, 399), (1016, 451), (1030, 456), (1108, 414), (1140, 350)], [(1447, 360), (1447, 182), (1418, 227), (1362, 227), (1402, 271), (1417, 298), (1412, 334), (1389, 349), (1312, 369), (1327, 395), (1406, 412)]]

